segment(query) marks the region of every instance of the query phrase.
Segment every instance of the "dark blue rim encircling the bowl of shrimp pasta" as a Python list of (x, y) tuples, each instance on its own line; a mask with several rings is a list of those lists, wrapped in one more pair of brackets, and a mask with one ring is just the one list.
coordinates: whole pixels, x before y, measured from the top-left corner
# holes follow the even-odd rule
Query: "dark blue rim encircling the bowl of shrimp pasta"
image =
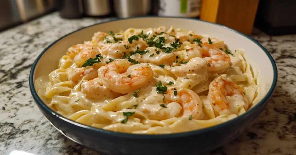
[[(193, 19), (193, 18), (186, 18), (186, 17), (143, 16), (143, 17), (131, 17), (131, 18), (126, 18), (126, 19), (134, 19), (134, 18), (181, 18), (181, 19), (199, 20), (199, 21), (202, 21), (202, 22), (207, 22), (207, 21), (203, 21), (203, 20), (200, 20), (200, 19)], [(112, 19), (112, 20), (107, 21), (107, 22), (113, 22), (113, 21), (118, 21), (118, 20), (126, 20), (126, 19)], [(101, 23), (97, 23), (97, 24), (94, 24), (94, 25), (104, 24), (104, 23), (107, 23), (107, 22), (101, 22)], [(122, 137), (122, 138), (133, 138), (133, 139), (177, 138), (177, 137), (187, 137), (187, 136), (196, 135), (196, 134), (203, 134), (203, 133), (206, 133), (206, 132), (217, 130), (217, 129), (222, 128), (222, 127), (227, 126), (227, 125), (231, 125), (231, 123), (234, 123), (236, 121), (239, 121), (241, 118), (244, 118), (247, 115), (249, 115), (255, 108), (258, 108), (258, 107), (262, 106), (271, 97), (272, 93), (274, 92), (274, 89), (276, 87), (276, 82), (277, 82), (277, 68), (276, 68), (276, 63), (275, 63), (274, 59), (272, 58), (272, 56), (270, 55), (270, 53), (260, 43), (258, 43), (257, 41), (255, 41), (251, 37), (249, 37), (247, 35), (244, 35), (243, 33), (238, 32), (236, 30), (233, 30), (233, 29), (231, 29), (229, 27), (226, 27), (224, 25), (220, 25), (220, 24), (212, 23), (212, 22), (207, 22), (207, 23), (213, 24), (213, 25), (218, 25), (218, 26), (223, 27), (225, 29), (228, 29), (228, 30), (231, 30), (233, 32), (236, 32), (237, 34), (242, 35), (242, 36), (246, 37), (247, 39), (251, 40), (252, 42), (254, 42), (255, 44), (257, 44), (266, 53), (266, 55), (268, 56), (269, 60), (271, 61), (272, 68), (273, 68), (273, 71), (274, 71), (273, 81), (272, 81), (272, 84), (271, 84), (271, 88), (269, 89), (269, 91), (267, 92), (267, 94), (263, 97), (263, 99), (261, 99), (260, 102), (258, 102), (257, 105), (255, 105), (254, 107), (252, 107), (250, 110), (248, 110), (244, 114), (242, 114), (242, 115), (240, 115), (240, 116), (238, 116), (238, 117), (236, 117), (236, 118), (234, 118), (232, 120), (229, 120), (227, 122), (224, 122), (224, 123), (221, 123), (219, 125), (215, 125), (215, 126), (212, 126), (212, 127), (209, 127), (209, 128), (203, 128), (203, 129), (199, 129), (199, 130), (193, 130), (193, 131), (182, 132), (182, 133), (155, 134), (155, 135), (153, 135), (153, 134), (132, 134), (132, 133), (123, 133), (123, 132), (109, 131), (109, 130), (104, 130), (104, 129), (100, 129), (100, 128), (94, 128), (94, 127), (91, 127), (89, 125), (84, 125), (84, 124), (81, 124), (81, 123), (77, 123), (75, 121), (72, 121), (72, 120), (70, 120), (70, 119), (68, 119), (68, 118), (66, 118), (66, 117), (58, 114), (54, 110), (50, 109), (41, 100), (41, 98), (37, 95), (37, 92), (36, 92), (35, 87), (34, 87), (33, 74), (34, 74), (34, 70), (35, 70), (36, 64), (38, 63), (38, 61), (41, 58), (41, 56), (52, 45), (54, 45), (55, 43), (57, 43), (59, 40), (61, 40), (64, 37), (67, 37), (68, 35), (70, 35), (72, 33), (75, 33), (77, 31), (83, 30), (85, 28), (88, 28), (88, 27), (91, 27), (91, 26), (94, 26), (94, 25), (90, 25), (90, 26), (87, 26), (87, 27), (80, 28), (80, 29), (78, 29), (76, 31), (73, 31), (71, 33), (68, 33), (67, 35), (64, 35), (63, 37), (60, 37), (58, 40), (54, 41), (52, 44), (50, 44), (48, 47), (46, 47), (40, 53), (40, 55), (36, 58), (35, 62), (33, 63), (32, 68), (30, 70), (30, 77), (29, 77), (30, 92), (31, 92), (31, 94), (33, 96), (33, 99), (36, 101), (36, 103), (39, 106), (41, 106), (43, 109), (45, 109), (45, 112), (46, 113), (49, 113), (50, 115), (54, 115), (55, 117), (59, 117), (60, 119), (66, 121), (68, 123), (77, 125), (77, 126), (79, 126), (81, 128), (85, 128), (86, 130), (88, 130), (88, 129), (89, 130), (94, 130), (96, 132), (99, 132), (99, 133), (102, 133), (102, 134), (106, 134), (106, 135), (109, 135), (109, 136), (116, 136), (116, 137)]]

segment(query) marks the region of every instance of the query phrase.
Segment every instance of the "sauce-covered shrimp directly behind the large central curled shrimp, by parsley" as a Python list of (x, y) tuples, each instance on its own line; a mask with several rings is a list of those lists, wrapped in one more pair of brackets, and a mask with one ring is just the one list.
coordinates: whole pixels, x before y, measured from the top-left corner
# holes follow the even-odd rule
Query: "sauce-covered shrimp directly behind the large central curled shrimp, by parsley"
[(124, 56), (123, 52), (129, 54), (131, 51), (135, 51), (137, 49), (145, 50), (147, 47), (148, 45), (146, 41), (139, 37), (139, 40), (133, 40), (131, 44), (127, 40), (124, 40), (120, 43), (107, 44), (102, 48), (101, 53), (103, 55), (121, 58)]

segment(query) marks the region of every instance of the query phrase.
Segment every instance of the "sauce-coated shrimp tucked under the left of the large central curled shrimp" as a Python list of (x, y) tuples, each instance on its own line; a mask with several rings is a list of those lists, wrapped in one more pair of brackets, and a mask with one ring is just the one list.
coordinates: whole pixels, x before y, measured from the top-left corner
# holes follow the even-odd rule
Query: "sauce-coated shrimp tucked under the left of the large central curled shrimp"
[(121, 94), (113, 92), (106, 86), (103, 86), (100, 78), (95, 78), (90, 81), (85, 81), (81, 83), (81, 92), (86, 94), (86, 96), (95, 99), (115, 99)]

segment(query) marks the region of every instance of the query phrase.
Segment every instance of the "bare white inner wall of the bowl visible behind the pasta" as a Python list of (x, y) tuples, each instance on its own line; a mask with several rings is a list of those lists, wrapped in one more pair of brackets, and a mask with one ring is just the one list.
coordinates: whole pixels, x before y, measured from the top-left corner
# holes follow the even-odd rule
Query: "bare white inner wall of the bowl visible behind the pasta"
[[(70, 46), (83, 43), (85, 40), (91, 40), (91, 37), (97, 31), (109, 32), (112, 30), (118, 32), (130, 27), (149, 28), (165, 26), (169, 28), (171, 25), (175, 28), (193, 30), (195, 34), (208, 35), (224, 40), (232, 52), (236, 48), (243, 48), (246, 61), (251, 64), (254, 74), (258, 74), (258, 83), (260, 84), (260, 94), (258, 97), (263, 98), (267, 93), (273, 91), (277, 77), (276, 66), (271, 56), (267, 54), (268, 52), (259, 43), (250, 40), (250, 38), (241, 35), (239, 32), (218, 24), (172, 17), (141, 17), (117, 20), (93, 25), (70, 33), (50, 45), (43, 55), (41, 54), (33, 72), (33, 81), (39, 76), (48, 76), (50, 72), (58, 67), (59, 59), (66, 54)], [(272, 90), (270, 91), (270, 89)], [(257, 102), (259, 101), (257, 100)]]

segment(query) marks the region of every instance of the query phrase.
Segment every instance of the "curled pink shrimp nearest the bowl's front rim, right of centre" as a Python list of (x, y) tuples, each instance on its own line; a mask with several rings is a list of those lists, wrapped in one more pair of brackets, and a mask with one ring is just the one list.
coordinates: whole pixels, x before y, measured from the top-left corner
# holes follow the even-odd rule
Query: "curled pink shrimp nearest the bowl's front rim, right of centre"
[(200, 97), (190, 89), (181, 88), (176, 89), (176, 91), (177, 94), (173, 88), (168, 89), (167, 94), (164, 94), (164, 103), (177, 102), (182, 107), (183, 117), (191, 115), (193, 119), (200, 119), (203, 116)]

